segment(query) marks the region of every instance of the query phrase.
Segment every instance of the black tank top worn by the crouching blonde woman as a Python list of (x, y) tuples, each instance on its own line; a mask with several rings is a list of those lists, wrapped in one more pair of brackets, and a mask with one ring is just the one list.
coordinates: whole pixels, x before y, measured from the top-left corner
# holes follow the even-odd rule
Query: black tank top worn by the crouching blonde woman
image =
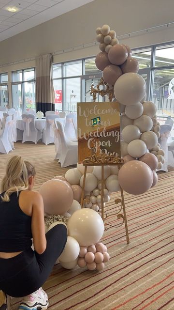
[(11, 194), (9, 202), (0, 197), (0, 252), (19, 252), (31, 247), (31, 217), (19, 207), (19, 195)]

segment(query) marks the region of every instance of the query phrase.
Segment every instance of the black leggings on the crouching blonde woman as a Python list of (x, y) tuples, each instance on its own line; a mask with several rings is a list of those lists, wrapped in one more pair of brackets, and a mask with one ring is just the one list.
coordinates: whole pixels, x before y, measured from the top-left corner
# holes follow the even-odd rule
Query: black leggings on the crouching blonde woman
[(23, 297), (43, 285), (67, 242), (65, 225), (58, 224), (50, 229), (46, 241), (43, 254), (29, 248), (13, 258), (0, 258), (0, 289), (3, 292)]

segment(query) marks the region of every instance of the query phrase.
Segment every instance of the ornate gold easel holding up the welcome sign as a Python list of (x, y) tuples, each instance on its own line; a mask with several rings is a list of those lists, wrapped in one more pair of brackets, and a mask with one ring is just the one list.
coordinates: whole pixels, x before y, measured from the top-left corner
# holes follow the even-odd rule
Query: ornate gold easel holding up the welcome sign
[[(100, 89), (100, 85), (105, 87), (104, 89)], [(91, 84), (90, 87), (90, 95), (93, 96), (94, 102), (96, 101), (97, 98), (97, 93), (99, 93), (102, 97), (105, 95), (108, 95), (109, 101), (111, 102), (112, 99), (114, 98), (114, 87), (112, 89), (109, 89), (108, 84), (101, 78), (99, 84), (97, 85), (97, 89), (94, 88), (94, 85)], [(123, 222), (119, 225), (111, 225), (111, 224), (106, 224), (107, 226), (110, 227), (120, 227), (125, 223), (125, 230), (126, 230), (126, 240), (127, 244), (130, 243), (129, 239), (129, 232), (128, 232), (128, 224), (127, 224), (127, 217), (126, 217), (126, 209), (125, 209), (125, 203), (124, 203), (124, 195), (123, 195), (123, 189), (120, 187), (120, 192), (121, 192), (121, 199), (116, 199), (115, 203), (121, 203), (121, 208), (120, 210), (112, 215), (107, 215), (107, 213), (104, 211), (104, 166), (118, 166), (118, 169), (124, 164), (123, 159), (116, 157), (115, 155), (92, 155), (91, 157), (87, 157), (86, 159), (83, 160), (83, 165), (85, 166), (85, 171), (84, 171), (84, 178), (83, 178), (83, 185), (82, 185), (82, 196), (81, 196), (81, 207), (84, 207), (84, 203), (87, 202), (89, 203), (88, 199), (84, 199), (84, 194), (85, 194), (85, 182), (86, 182), (86, 175), (87, 175), (87, 167), (88, 166), (101, 166), (102, 167), (102, 188), (101, 188), (101, 196), (102, 196), (102, 203), (101, 203), (101, 217), (104, 222), (104, 220), (109, 217), (116, 215), (117, 219), (122, 218)], [(123, 214), (120, 213), (121, 210), (123, 209)], [(100, 209), (99, 209), (100, 211)], [(105, 214), (105, 217), (104, 217)], [(105, 230), (108, 228), (105, 226)]]

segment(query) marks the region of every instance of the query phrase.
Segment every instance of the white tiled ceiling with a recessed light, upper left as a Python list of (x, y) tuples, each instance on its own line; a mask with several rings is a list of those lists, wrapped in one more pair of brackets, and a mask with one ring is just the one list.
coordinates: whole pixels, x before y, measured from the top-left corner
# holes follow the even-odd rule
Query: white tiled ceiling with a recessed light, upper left
[[(0, 0), (0, 41), (93, 0)], [(9, 12), (16, 7), (17, 12)]]

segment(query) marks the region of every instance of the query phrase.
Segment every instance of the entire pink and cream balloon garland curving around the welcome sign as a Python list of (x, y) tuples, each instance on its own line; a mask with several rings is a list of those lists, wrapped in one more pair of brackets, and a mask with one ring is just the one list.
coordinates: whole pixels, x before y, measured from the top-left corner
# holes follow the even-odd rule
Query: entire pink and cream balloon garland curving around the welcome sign
[[(110, 194), (120, 189), (137, 195), (145, 193), (158, 182), (157, 169), (164, 163), (160, 149), (160, 123), (156, 106), (146, 101), (146, 84), (137, 72), (139, 63), (131, 56), (131, 48), (119, 44), (116, 31), (108, 25), (96, 29), (96, 40), (101, 52), (95, 62), (103, 79), (114, 86), (114, 94), (120, 105), (121, 157), (124, 165), (104, 166), (104, 204)], [(80, 199), (85, 167), (77, 167), (45, 182), (40, 193), (43, 196), (45, 230), (58, 223), (67, 224), (68, 241), (59, 257), (67, 269), (75, 266), (89, 270), (102, 270), (109, 261), (107, 248), (100, 241), (104, 232), (102, 218), (98, 214), (102, 196), (102, 167), (87, 167), (85, 184), (85, 208)], [(97, 212), (96, 212), (97, 211)]]

